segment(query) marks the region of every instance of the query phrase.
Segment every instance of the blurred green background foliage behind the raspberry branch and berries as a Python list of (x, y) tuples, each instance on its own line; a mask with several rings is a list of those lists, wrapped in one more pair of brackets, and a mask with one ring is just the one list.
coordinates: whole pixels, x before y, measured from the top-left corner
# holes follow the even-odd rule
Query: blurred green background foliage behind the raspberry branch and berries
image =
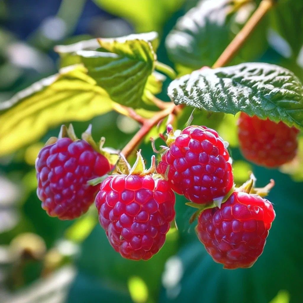
[[(258, 2), (0, 0), (0, 108), (16, 92), (55, 74), (59, 66), (71, 64), (63, 59), (60, 63), (53, 51), (58, 44), (157, 31), (158, 60), (175, 67), (179, 74), (212, 65)], [(269, 62), (289, 68), (303, 80), (302, 16), (301, 0), (278, 1), (231, 64)], [(168, 84), (166, 79), (158, 94), (166, 101)], [(74, 97), (77, 101), (77, 95)], [(98, 99), (95, 102), (98, 104)], [(73, 122), (78, 135), (92, 123), (95, 139), (105, 135), (106, 146), (121, 149), (138, 130), (137, 122), (107, 110), (104, 102), (102, 107), (94, 106), (95, 112), (90, 115), (77, 104), (63, 119)], [(142, 113), (152, 115), (146, 109)], [(171, 229), (161, 251), (145, 262), (125, 260), (113, 251), (98, 225), (94, 206), (74, 221), (48, 217), (36, 196), (34, 163), (44, 142), (58, 135), (56, 121), (60, 114), (52, 107), (37, 113), (38, 124), (27, 125), (24, 132), (35, 134), (45, 119), (55, 123), (44, 128), (31, 144), (21, 148), (16, 145), (17, 150), (12, 148), (0, 158), (1, 303), (303, 301), (302, 136), (298, 157), (281, 170), (268, 170), (241, 156), (237, 116), (195, 110), (194, 124), (217, 129), (230, 143), (238, 185), (247, 179), (250, 170), (258, 178), (258, 186), (270, 178), (276, 181), (269, 200), (277, 217), (264, 253), (252, 268), (228, 271), (212, 261), (196, 238), (194, 224), (188, 223), (194, 210), (185, 206), (180, 196), (176, 201), (178, 230)], [(175, 126), (184, 127), (190, 115), (191, 109), (186, 108)], [(148, 138), (163, 132), (164, 125), (152, 129), (142, 143), (145, 159), (152, 155)], [(1, 129), (5, 130), (2, 138), (12, 131), (7, 124), (0, 126), (0, 133)], [(157, 140), (156, 145), (160, 144)]]

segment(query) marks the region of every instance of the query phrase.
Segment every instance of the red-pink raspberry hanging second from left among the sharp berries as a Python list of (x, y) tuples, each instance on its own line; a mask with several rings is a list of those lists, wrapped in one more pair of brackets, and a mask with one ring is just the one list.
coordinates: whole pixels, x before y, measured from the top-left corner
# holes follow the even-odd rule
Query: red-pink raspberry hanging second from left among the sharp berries
[(95, 203), (109, 243), (132, 260), (155, 255), (175, 218), (175, 195), (168, 182), (151, 175), (109, 176)]

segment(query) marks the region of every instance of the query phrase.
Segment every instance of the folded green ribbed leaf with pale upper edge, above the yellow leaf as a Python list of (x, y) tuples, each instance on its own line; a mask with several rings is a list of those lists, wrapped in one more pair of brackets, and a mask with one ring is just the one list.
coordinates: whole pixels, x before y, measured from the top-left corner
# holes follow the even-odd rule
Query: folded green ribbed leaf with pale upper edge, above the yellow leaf
[(120, 38), (100, 38), (97, 50), (93, 40), (55, 48), (63, 62), (81, 62), (88, 75), (104, 88), (110, 98), (134, 108), (151, 104), (165, 78), (154, 74), (158, 34), (149, 32)]

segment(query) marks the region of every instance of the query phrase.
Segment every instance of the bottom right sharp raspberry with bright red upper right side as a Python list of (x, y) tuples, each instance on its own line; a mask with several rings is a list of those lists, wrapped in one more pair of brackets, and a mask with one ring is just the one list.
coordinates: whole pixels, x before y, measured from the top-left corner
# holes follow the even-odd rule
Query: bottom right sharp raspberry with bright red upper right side
[(275, 211), (268, 200), (234, 192), (221, 209), (200, 213), (196, 233), (215, 262), (228, 269), (248, 268), (262, 254), (274, 219)]

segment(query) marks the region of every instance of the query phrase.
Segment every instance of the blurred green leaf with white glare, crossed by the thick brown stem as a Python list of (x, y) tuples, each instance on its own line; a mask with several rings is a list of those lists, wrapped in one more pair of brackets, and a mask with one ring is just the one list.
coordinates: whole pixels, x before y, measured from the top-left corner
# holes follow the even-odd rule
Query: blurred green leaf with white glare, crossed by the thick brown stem
[[(243, 2), (244, 3), (244, 2)], [(202, 66), (212, 66), (240, 31), (254, 9), (253, 3), (237, 5), (231, 0), (200, 1), (181, 17), (166, 38), (171, 61), (184, 75)], [(267, 21), (262, 21), (230, 63), (259, 57), (267, 46)]]

